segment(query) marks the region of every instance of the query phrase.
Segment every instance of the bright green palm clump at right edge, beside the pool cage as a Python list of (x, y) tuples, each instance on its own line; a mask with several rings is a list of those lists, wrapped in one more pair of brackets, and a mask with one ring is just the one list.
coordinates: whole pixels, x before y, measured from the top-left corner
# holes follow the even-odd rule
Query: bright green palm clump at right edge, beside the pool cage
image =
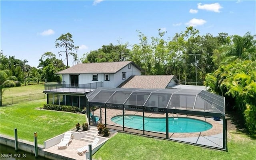
[(250, 133), (256, 133), (256, 62), (237, 59), (222, 64), (206, 77), (206, 86), (222, 96), (231, 96), (244, 115)]

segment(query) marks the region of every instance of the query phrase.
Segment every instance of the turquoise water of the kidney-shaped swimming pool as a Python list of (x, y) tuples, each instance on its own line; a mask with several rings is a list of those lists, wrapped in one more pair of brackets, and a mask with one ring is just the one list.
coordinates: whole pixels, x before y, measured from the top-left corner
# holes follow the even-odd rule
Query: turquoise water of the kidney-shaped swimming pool
[[(139, 115), (125, 115), (124, 127), (143, 130), (143, 117)], [(117, 115), (111, 121), (123, 125), (123, 116)], [(166, 132), (166, 118), (144, 117), (145, 131)], [(199, 119), (179, 117), (168, 118), (169, 132), (173, 133), (192, 133), (202, 132), (212, 128), (208, 122)]]

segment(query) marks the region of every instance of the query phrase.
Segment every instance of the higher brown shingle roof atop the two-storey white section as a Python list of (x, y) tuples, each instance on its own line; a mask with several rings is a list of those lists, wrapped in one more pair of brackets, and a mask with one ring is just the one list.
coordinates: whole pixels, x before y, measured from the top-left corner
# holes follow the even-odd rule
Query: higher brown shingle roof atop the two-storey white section
[(139, 70), (138, 67), (132, 61), (124, 62), (103, 62), (103, 63), (80, 63), (72, 66), (66, 70), (62, 70), (57, 74), (83, 74), (83, 73), (116, 73), (120, 69), (124, 68), (128, 64), (133, 64)]

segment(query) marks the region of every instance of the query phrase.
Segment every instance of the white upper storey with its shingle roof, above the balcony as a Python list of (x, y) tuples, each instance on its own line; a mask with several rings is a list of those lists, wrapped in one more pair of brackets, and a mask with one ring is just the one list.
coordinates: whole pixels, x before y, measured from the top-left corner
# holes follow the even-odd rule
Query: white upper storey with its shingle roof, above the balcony
[[(105, 70), (102, 70), (102, 67)], [(58, 74), (62, 74), (62, 81), (66, 84), (74, 84), (74, 87), (77, 84), (94, 82), (102, 82), (102, 87), (117, 87), (130, 76), (141, 74), (140, 68), (132, 61), (79, 64), (70, 68)], [(89, 69), (83, 71), (81, 68)]]

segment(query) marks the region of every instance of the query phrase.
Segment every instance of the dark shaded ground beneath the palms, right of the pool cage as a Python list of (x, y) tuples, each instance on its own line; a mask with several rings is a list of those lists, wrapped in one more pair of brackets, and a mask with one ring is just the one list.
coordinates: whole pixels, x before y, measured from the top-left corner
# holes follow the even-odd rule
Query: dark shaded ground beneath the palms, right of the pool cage
[(226, 111), (226, 119), (228, 123), (228, 130), (240, 131), (241, 133), (246, 134), (251, 139), (256, 140), (256, 135), (250, 135), (248, 129), (246, 128), (244, 116), (241, 112)]

